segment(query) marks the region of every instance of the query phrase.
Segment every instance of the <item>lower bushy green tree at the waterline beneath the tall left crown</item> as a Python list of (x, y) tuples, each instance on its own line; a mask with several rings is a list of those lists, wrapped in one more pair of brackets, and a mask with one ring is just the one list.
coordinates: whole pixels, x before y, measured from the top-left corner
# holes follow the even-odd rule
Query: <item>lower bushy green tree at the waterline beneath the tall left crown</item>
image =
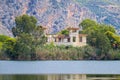
[(32, 54), (35, 53), (34, 45), (32, 45), (33, 38), (29, 34), (21, 34), (17, 38), (14, 46), (14, 54), (17, 54), (18, 60), (31, 60)]

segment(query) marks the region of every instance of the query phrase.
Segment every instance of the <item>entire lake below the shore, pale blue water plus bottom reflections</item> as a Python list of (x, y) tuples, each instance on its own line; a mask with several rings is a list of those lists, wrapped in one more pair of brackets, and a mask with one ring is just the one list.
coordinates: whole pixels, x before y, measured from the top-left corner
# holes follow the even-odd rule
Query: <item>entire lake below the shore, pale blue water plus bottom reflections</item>
[(0, 61), (0, 80), (119, 80), (119, 68), (120, 61)]

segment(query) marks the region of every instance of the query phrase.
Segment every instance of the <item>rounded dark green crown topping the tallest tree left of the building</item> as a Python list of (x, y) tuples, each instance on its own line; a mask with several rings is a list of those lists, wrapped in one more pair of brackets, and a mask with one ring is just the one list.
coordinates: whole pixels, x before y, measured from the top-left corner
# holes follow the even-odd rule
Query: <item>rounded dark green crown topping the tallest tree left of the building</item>
[(37, 20), (33, 16), (22, 15), (15, 18), (16, 27), (12, 28), (14, 36), (21, 33), (32, 33), (36, 28)]

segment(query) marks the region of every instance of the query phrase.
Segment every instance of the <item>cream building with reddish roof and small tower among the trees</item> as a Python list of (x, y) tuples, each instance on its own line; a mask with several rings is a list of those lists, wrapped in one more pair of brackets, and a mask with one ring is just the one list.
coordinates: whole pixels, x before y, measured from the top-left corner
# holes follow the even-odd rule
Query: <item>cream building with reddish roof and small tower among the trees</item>
[(72, 45), (85, 46), (86, 45), (86, 34), (79, 34), (79, 28), (67, 28), (69, 31), (68, 35), (64, 34), (47, 34), (47, 43), (53, 42), (55, 45)]

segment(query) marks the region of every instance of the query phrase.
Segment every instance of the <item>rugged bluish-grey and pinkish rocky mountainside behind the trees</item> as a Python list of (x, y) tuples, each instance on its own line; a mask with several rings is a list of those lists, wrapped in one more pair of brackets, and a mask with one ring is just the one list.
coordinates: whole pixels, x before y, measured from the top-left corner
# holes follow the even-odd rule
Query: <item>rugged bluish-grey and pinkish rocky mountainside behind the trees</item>
[(119, 30), (119, 4), (119, 0), (0, 0), (0, 22), (11, 30), (16, 16), (33, 15), (38, 25), (54, 33), (67, 26), (77, 27), (90, 18)]

